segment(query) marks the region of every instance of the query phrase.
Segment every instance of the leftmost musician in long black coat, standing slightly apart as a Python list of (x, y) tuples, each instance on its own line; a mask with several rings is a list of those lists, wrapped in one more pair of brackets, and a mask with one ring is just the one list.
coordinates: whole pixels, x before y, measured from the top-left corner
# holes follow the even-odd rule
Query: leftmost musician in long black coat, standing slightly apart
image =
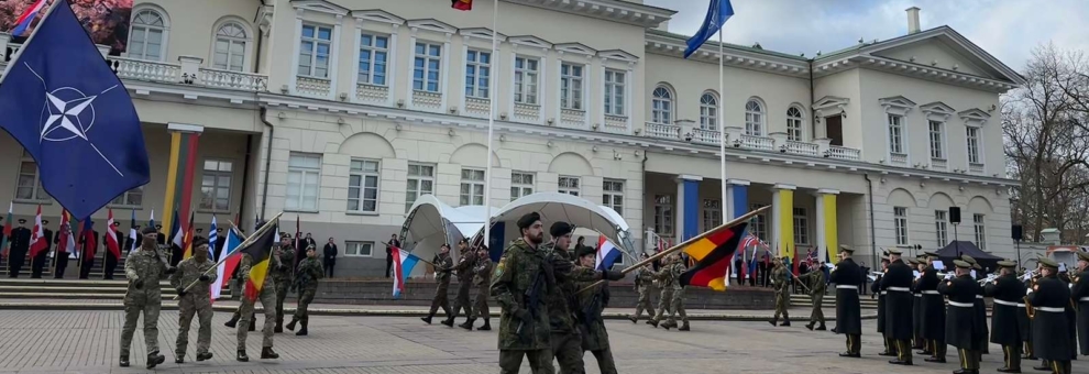
[(840, 358), (861, 358), (862, 353), (862, 310), (858, 300), (858, 287), (862, 285), (862, 270), (850, 258), (855, 250), (847, 245), (839, 248), (839, 263), (832, 271), (832, 283), (836, 284), (836, 332), (847, 336), (847, 352)]

